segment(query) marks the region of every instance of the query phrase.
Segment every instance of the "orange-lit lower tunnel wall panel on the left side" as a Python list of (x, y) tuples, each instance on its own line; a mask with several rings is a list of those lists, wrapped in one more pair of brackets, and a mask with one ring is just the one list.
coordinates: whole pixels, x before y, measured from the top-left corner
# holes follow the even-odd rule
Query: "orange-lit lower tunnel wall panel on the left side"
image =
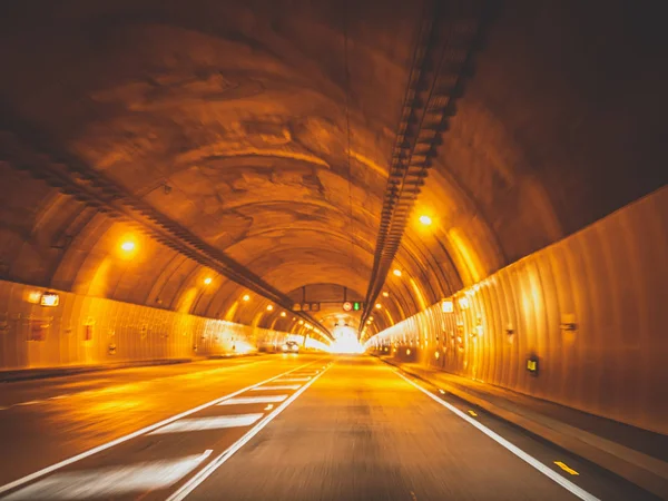
[(45, 291), (0, 281), (0, 370), (238, 354), (288, 335), (68, 292), (36, 304)]

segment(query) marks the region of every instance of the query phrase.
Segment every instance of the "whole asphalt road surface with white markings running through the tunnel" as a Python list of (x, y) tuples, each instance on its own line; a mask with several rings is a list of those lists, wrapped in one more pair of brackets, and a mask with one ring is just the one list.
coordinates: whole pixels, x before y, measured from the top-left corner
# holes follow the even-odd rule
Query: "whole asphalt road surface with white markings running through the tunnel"
[(2, 500), (651, 499), (367, 356), (11, 383), (0, 406)]

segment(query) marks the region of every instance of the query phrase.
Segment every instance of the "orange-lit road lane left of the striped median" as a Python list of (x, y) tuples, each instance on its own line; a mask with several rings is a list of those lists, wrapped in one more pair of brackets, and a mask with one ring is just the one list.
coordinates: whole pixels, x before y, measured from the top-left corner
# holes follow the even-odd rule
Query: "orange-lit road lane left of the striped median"
[[(0, 485), (75, 456), (100, 444), (202, 405), (245, 386), (321, 360), (313, 355), (275, 355), (239, 363), (171, 365), (114, 371), (85, 392), (48, 404), (19, 405), (0, 411)], [(230, 363), (232, 362), (232, 363)], [(171, 371), (171, 373), (170, 373)], [(86, 375), (45, 380), (46, 394), (60, 385), (86, 385)], [(39, 394), (39, 382), (10, 383)], [(90, 386), (90, 385), (88, 385)], [(13, 395), (20, 393), (12, 390)], [(202, 453), (195, 451), (194, 453)], [(122, 461), (121, 461), (122, 462)]]

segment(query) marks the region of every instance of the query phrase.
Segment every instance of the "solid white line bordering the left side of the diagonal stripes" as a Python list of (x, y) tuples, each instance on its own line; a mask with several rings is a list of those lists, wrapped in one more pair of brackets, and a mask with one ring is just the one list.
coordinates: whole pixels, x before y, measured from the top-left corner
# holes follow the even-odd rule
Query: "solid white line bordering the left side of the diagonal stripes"
[(298, 367), (295, 367), (295, 369), (293, 369), (291, 371), (281, 373), (281, 374), (278, 374), (278, 375), (276, 375), (274, 377), (269, 377), (268, 380), (262, 381), (262, 382), (253, 384), (250, 386), (246, 386), (246, 387), (244, 387), (242, 390), (238, 390), (238, 391), (236, 391), (234, 393), (230, 393), (228, 395), (220, 396), (218, 399), (212, 400), (210, 402), (207, 402), (207, 403), (204, 403), (202, 405), (198, 405), (197, 407), (194, 407), (194, 409), (190, 409), (188, 411), (181, 412), (180, 414), (177, 414), (175, 416), (167, 418), (166, 420), (163, 420), (163, 421), (160, 421), (158, 423), (155, 423), (155, 424), (150, 424), (150, 425), (148, 425), (146, 428), (143, 428), (141, 430), (137, 430), (136, 432), (132, 432), (132, 433), (130, 433), (128, 435), (120, 436), (120, 438), (118, 438), (116, 440), (112, 440), (111, 442), (107, 442), (105, 444), (98, 445), (97, 448), (89, 449), (86, 452), (81, 452), (80, 454), (73, 455), (73, 456), (68, 458), (66, 460), (62, 460), (62, 461), (60, 461), (60, 462), (58, 462), (56, 464), (51, 464), (50, 466), (43, 468), (43, 469), (41, 469), (39, 471), (36, 471), (33, 473), (30, 473), (30, 474), (28, 474), (26, 477), (21, 477), (20, 479), (14, 480), (13, 482), (9, 482), (9, 483), (6, 483), (4, 485), (0, 485), (0, 494), (3, 493), (3, 492), (10, 491), (12, 489), (16, 489), (16, 488), (18, 488), (20, 485), (23, 485), (27, 482), (31, 482), (32, 480), (39, 479), (40, 477), (43, 477), (43, 475), (46, 475), (48, 473), (51, 473), (51, 472), (57, 471), (57, 470), (60, 470), (61, 468), (67, 466), (68, 464), (76, 463), (77, 461), (81, 461), (82, 459), (89, 458), (89, 456), (91, 456), (94, 454), (97, 454), (98, 452), (106, 451), (107, 449), (110, 449), (110, 448), (112, 448), (115, 445), (118, 445), (120, 443), (127, 442), (128, 440), (132, 440), (132, 439), (135, 439), (135, 438), (137, 438), (139, 435), (143, 435), (145, 433), (148, 433), (150, 431), (154, 431), (154, 430), (156, 430), (156, 429), (158, 429), (160, 426), (164, 426), (166, 424), (169, 424), (169, 423), (171, 423), (171, 422), (174, 422), (176, 420), (180, 420), (181, 418), (186, 418), (186, 416), (188, 416), (190, 414), (195, 414), (196, 412), (199, 412), (199, 411), (203, 411), (205, 409), (208, 409), (208, 407), (210, 407), (213, 405), (216, 405), (219, 402), (223, 402), (224, 400), (233, 399), (234, 396), (239, 395), (239, 394), (242, 394), (244, 392), (247, 392), (248, 390), (252, 390), (255, 386), (261, 386), (263, 384), (266, 384), (268, 382), (277, 380), (278, 377), (282, 377), (282, 376), (286, 375), (286, 374), (291, 374), (291, 373), (293, 373), (295, 371), (298, 371), (299, 369), (306, 367), (306, 366), (308, 366), (311, 364), (314, 364), (317, 361), (308, 362), (308, 363), (306, 363), (304, 365), (299, 365)]

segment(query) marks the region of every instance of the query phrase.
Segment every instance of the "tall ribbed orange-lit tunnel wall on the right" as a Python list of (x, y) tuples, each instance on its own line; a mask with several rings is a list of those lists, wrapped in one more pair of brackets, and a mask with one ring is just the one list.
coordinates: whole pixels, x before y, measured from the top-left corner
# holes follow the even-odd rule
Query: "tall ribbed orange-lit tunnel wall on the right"
[(668, 433), (666, 256), (664, 187), (460, 291), (452, 313), (438, 303), (370, 343), (403, 361)]

